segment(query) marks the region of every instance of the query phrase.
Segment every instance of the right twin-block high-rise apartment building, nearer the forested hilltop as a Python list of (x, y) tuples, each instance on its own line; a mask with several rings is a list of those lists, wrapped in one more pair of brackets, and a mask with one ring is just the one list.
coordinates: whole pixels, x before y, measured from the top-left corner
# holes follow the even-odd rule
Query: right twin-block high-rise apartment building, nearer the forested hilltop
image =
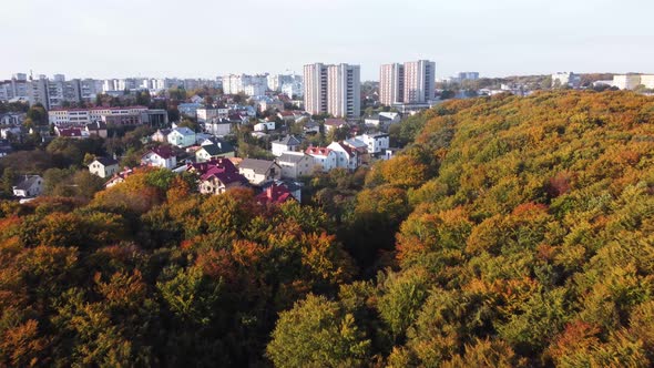
[(379, 102), (426, 103), (433, 99), (436, 63), (429, 60), (392, 63), (379, 69)]

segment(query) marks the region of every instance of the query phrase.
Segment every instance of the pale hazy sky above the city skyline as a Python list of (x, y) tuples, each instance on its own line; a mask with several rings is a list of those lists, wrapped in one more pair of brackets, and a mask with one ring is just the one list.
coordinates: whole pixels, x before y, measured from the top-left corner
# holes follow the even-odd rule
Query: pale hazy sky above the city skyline
[(436, 61), (437, 78), (654, 73), (652, 0), (2, 0), (0, 80)]

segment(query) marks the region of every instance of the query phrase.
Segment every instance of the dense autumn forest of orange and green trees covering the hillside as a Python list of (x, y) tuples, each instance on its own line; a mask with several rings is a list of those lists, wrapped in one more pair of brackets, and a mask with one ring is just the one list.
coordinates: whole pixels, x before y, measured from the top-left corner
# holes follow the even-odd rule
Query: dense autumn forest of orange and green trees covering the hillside
[(159, 170), (2, 203), (0, 366), (654, 364), (654, 99), (449, 101), (391, 135), (310, 205)]

